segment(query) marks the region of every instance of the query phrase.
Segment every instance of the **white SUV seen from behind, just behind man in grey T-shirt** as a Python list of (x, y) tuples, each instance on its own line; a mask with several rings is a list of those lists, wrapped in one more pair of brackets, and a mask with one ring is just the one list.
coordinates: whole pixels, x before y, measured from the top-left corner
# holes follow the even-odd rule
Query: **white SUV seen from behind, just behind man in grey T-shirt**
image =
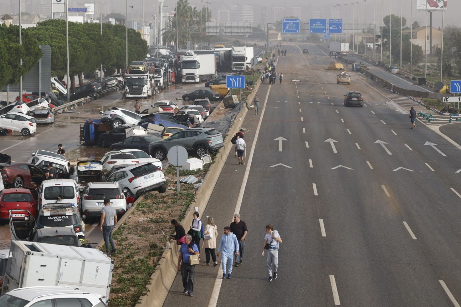
[(126, 199), (118, 182), (89, 182), (84, 188), (81, 198), (82, 214), (86, 216), (101, 216), (104, 199), (111, 200), (111, 207), (118, 215), (126, 212)]

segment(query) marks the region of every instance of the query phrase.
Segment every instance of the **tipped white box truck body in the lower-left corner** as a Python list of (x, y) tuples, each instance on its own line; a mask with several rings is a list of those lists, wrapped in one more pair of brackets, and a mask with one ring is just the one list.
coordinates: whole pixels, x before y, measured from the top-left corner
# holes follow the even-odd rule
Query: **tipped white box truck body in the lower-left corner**
[(11, 241), (1, 294), (33, 286), (70, 286), (107, 302), (114, 261), (99, 249)]

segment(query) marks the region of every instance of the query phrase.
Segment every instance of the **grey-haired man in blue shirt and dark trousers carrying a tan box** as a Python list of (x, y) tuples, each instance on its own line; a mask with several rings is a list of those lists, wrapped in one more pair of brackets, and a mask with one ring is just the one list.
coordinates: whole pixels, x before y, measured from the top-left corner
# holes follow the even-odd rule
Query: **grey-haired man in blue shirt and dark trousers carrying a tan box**
[[(189, 296), (194, 296), (194, 275), (195, 275), (195, 264), (189, 263), (190, 255), (200, 254), (197, 244), (192, 242), (192, 237), (186, 235), (184, 237), (184, 244), (179, 248), (179, 257), (177, 259), (177, 270), (181, 271), (181, 277), (183, 278), (183, 293)], [(183, 265), (181, 265), (183, 261)]]

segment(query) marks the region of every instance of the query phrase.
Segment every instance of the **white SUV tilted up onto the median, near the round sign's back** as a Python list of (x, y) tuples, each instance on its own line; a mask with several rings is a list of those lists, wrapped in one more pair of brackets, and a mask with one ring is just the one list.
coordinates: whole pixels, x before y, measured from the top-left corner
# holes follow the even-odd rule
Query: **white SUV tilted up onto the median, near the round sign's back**
[(150, 191), (165, 193), (166, 180), (162, 170), (153, 163), (143, 163), (122, 168), (112, 173), (106, 181), (117, 181), (127, 197)]

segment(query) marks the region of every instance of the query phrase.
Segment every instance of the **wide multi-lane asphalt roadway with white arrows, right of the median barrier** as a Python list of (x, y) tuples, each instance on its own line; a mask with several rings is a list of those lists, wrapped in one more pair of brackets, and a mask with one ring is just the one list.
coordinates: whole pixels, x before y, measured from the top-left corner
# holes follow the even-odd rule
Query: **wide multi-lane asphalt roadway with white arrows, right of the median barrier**
[[(363, 75), (337, 85), (318, 47), (286, 49), (283, 84), (262, 85), (260, 114), (243, 122), (246, 165), (231, 153), (203, 214), (219, 234), (242, 215), (244, 264), (231, 280), (197, 266), (192, 298), (178, 274), (164, 306), (459, 306), (460, 149), (420, 122), (410, 129), (407, 110)], [(345, 107), (348, 90), (365, 105)], [(283, 240), (272, 282), (267, 224)]]

